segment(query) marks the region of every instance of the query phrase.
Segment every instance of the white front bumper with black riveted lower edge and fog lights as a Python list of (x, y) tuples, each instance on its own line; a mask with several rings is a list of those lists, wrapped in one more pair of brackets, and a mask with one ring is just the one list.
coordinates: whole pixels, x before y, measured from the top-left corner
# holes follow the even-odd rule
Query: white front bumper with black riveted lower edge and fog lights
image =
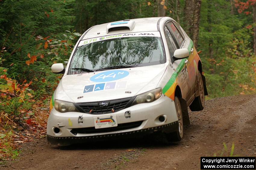
[[(130, 111), (130, 118), (125, 117), (127, 111)], [(107, 115), (116, 115), (117, 124), (120, 126), (113, 130), (95, 129), (94, 118)], [(160, 116), (164, 117), (164, 121), (159, 120)], [(60, 113), (53, 109), (48, 118), (47, 139), (52, 145), (70, 145), (95, 139), (120, 138), (126, 135), (141, 136), (156, 131), (170, 133), (177, 131), (177, 121), (174, 101), (164, 94), (154, 102), (141, 103), (118, 112), (101, 115), (80, 112)], [(139, 122), (139, 124), (135, 125), (136, 127), (120, 128), (121, 125), (133, 124), (133, 122)], [(56, 133), (54, 128), (58, 128), (59, 132)]]

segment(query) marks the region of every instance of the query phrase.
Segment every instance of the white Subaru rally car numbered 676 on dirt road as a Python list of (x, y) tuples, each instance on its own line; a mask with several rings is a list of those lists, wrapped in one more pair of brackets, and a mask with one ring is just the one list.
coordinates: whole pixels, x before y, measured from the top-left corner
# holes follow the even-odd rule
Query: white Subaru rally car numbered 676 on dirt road
[(187, 107), (204, 108), (201, 60), (170, 17), (95, 25), (78, 40), (50, 102), (47, 139), (70, 145), (161, 133), (180, 141)]

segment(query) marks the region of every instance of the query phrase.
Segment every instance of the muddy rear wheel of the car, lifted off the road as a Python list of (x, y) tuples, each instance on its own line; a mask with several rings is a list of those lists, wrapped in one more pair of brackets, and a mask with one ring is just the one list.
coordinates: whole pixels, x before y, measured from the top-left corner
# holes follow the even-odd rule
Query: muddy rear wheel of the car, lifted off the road
[(200, 111), (204, 109), (204, 84), (203, 84), (203, 79), (200, 72), (198, 76), (198, 91), (199, 91), (199, 96), (196, 97), (191, 103), (191, 105), (189, 106), (191, 111)]

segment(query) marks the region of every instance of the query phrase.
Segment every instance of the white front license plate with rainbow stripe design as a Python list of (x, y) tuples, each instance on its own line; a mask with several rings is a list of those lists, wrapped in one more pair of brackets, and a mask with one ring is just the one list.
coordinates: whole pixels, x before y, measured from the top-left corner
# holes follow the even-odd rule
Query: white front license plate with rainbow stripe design
[(98, 116), (94, 117), (95, 129), (116, 127), (117, 126), (117, 116)]

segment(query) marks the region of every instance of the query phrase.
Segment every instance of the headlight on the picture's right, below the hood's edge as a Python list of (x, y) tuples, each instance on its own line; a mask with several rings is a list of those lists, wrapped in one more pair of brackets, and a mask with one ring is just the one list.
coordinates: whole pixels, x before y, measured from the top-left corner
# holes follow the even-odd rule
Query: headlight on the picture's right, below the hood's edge
[(143, 94), (139, 94), (133, 101), (132, 105), (139, 103), (150, 103), (159, 99), (162, 95), (162, 88), (157, 88), (155, 90), (148, 91)]

